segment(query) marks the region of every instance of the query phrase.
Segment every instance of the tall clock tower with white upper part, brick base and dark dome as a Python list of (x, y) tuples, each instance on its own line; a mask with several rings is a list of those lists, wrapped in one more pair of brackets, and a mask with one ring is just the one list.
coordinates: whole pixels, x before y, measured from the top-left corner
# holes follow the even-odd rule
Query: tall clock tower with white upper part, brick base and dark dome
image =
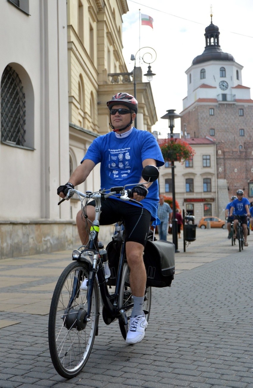
[(220, 48), (220, 31), (212, 15), (204, 37), (203, 53), (185, 71), (181, 131), (215, 140), (218, 215), (224, 217), (225, 202), (238, 189), (253, 200), (253, 100), (250, 88), (243, 85), (243, 66)]

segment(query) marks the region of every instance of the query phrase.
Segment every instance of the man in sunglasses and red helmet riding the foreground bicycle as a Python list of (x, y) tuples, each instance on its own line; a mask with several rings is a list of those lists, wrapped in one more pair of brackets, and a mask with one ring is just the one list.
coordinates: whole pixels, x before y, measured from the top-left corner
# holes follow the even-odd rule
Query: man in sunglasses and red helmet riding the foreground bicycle
[[(126, 343), (134, 344), (145, 335), (147, 320), (143, 312), (146, 289), (146, 269), (143, 251), (147, 241), (150, 222), (157, 218), (159, 201), (158, 182), (147, 183), (141, 178), (141, 171), (147, 165), (163, 166), (161, 150), (154, 136), (133, 128), (132, 123), (138, 111), (138, 102), (130, 94), (118, 93), (107, 102), (110, 111), (109, 125), (113, 132), (97, 137), (88, 148), (81, 165), (73, 172), (69, 181), (60, 186), (57, 194), (64, 198), (66, 187), (83, 183), (95, 165), (101, 163), (101, 189), (124, 186), (139, 182), (132, 188), (133, 199), (141, 201), (143, 207), (120, 199), (102, 200), (101, 225), (125, 221), (126, 258), (130, 267), (130, 287), (133, 295), (133, 310)], [(83, 245), (88, 242), (87, 225), (90, 228), (95, 218), (95, 201), (88, 203), (88, 217), (79, 211), (76, 216), (78, 233)]]

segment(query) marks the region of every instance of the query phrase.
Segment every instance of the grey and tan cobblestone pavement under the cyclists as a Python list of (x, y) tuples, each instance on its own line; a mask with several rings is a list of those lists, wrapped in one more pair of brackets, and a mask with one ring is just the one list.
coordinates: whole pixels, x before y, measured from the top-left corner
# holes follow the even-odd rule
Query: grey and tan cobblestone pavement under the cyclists
[[(168, 239), (172, 239), (168, 236)], [(70, 252), (0, 261), (0, 388), (253, 388), (253, 232), (239, 253), (225, 230), (178, 240), (171, 288), (152, 288), (141, 343), (125, 344), (117, 322), (99, 321), (90, 359), (66, 380), (47, 342), (50, 299)]]

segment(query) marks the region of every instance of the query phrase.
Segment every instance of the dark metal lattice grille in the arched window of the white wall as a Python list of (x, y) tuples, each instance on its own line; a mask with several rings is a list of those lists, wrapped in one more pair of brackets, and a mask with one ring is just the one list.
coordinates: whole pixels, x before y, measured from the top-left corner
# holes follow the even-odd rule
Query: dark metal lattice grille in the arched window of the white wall
[(26, 100), (21, 80), (9, 65), (1, 79), (1, 141), (24, 146)]

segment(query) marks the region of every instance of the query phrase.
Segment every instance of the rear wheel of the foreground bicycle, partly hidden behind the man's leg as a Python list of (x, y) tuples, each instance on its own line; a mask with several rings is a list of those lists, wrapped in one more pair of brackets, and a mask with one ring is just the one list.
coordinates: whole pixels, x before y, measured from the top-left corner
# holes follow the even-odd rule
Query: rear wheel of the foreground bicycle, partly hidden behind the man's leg
[[(122, 280), (121, 280), (121, 286), (120, 286), (119, 307), (120, 309), (123, 308), (125, 310), (127, 322), (130, 320), (130, 316), (133, 310), (132, 291), (130, 288), (129, 277), (130, 277), (130, 268), (128, 267), (128, 264), (125, 263), (123, 267)], [(149, 320), (150, 308), (151, 308), (151, 287), (147, 287), (145, 290), (144, 304), (143, 304), (143, 310), (145, 311), (147, 321)], [(123, 321), (123, 319), (119, 317), (119, 325), (120, 325), (121, 334), (125, 340), (126, 334), (128, 331), (128, 324), (125, 325), (125, 322)]]

